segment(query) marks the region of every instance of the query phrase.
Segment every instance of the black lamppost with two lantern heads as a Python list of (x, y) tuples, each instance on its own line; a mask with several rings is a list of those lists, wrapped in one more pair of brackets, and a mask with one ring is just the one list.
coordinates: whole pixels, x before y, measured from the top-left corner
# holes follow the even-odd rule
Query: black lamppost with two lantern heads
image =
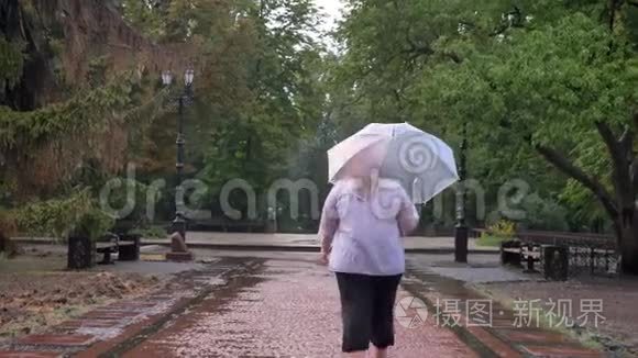
[[(184, 213), (179, 211), (180, 203), (177, 202), (177, 198), (184, 198), (184, 188), (182, 187), (184, 171), (184, 145), (186, 144), (186, 141), (184, 139), (184, 107), (193, 99), (194, 77), (195, 71), (191, 68), (188, 68), (184, 72), (184, 92), (176, 99), (178, 108), (177, 139), (175, 141), (177, 146), (177, 161), (175, 164), (175, 168), (177, 169), (177, 184), (175, 186), (175, 220), (173, 221), (170, 232), (179, 233), (184, 240), (186, 240), (186, 220), (184, 217)], [(170, 86), (173, 82), (173, 75), (170, 71), (162, 72), (162, 82), (164, 86)]]

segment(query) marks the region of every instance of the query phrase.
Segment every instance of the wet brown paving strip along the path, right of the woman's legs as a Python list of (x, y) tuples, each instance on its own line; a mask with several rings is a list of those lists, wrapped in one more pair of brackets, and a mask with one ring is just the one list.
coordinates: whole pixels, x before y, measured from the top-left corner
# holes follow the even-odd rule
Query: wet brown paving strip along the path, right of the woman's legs
[[(418, 262), (408, 260), (404, 288), (426, 302), (432, 313), (429, 318), (454, 331), (482, 357), (616, 357), (587, 348), (559, 329), (541, 328), (532, 309), (514, 312), (473, 290), (466, 281), (443, 277), (436, 267)], [(460, 272), (465, 269), (460, 268)]]

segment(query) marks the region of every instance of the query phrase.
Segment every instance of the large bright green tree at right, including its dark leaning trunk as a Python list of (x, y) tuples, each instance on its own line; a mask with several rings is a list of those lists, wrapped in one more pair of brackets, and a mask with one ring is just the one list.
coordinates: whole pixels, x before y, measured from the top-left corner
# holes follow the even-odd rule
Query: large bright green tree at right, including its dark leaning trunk
[[(618, 237), (623, 269), (638, 273), (634, 2), (351, 5), (343, 69), (358, 74), (345, 81), (356, 87), (354, 98), (389, 102), (391, 112), (435, 128), (466, 123), (473, 148), (526, 174), (538, 163), (529, 157), (536, 152), (598, 200)], [(494, 161), (477, 165), (483, 172), (497, 169)], [(575, 199), (575, 187), (568, 188)]]

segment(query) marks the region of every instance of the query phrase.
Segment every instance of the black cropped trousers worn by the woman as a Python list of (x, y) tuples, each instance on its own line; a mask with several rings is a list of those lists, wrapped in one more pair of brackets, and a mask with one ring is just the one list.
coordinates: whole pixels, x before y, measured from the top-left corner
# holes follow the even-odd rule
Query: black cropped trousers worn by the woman
[(342, 350), (394, 345), (394, 305), (402, 275), (367, 276), (336, 272), (343, 321)]

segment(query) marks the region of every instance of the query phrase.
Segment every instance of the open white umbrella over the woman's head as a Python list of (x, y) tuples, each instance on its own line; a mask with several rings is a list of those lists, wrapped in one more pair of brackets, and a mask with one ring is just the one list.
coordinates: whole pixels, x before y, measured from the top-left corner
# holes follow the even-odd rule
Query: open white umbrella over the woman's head
[(372, 123), (328, 150), (331, 182), (366, 176), (398, 180), (415, 203), (425, 203), (459, 180), (449, 145), (408, 123)]

